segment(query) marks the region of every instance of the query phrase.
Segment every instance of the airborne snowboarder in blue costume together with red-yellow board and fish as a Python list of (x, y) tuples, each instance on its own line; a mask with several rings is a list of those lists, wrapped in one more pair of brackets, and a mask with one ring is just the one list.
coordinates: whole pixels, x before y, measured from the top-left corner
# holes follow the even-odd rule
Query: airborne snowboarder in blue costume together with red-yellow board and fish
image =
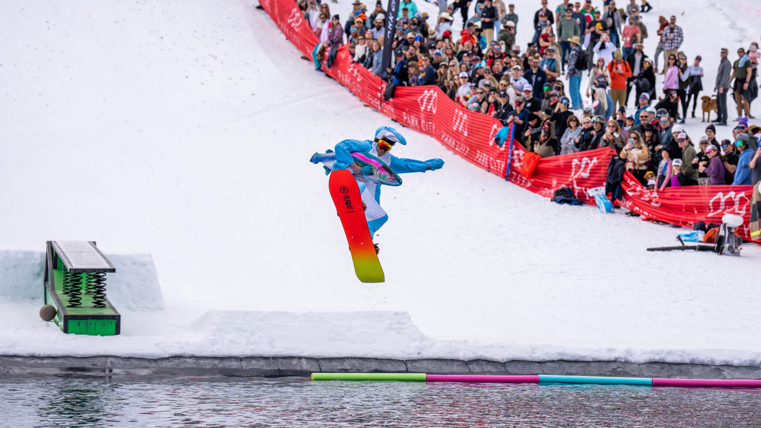
[[(373, 244), (375, 254), (369, 257), (369, 260), (374, 258), (377, 267), (369, 269), (368, 266), (372, 264), (365, 263), (365, 260), (368, 260), (368, 254), (364, 254), (375, 232), (388, 221), (388, 214), (380, 206), (378, 184), (401, 186), (402, 179), (398, 174), (435, 171), (444, 166), (444, 161), (438, 158), (417, 161), (390, 155), (389, 152), (397, 143), (406, 145), (407, 140), (396, 129), (380, 126), (375, 130), (372, 140), (345, 139), (336, 144), (335, 151), (328, 150), (324, 154), (315, 153), (310, 158), (313, 164), (322, 162), (325, 174), (330, 174), (330, 195), (333, 196), (333, 203), (336, 204), (336, 211), (341, 219), (346, 238), (349, 240), (349, 251), (352, 251), (355, 272), (363, 283), (384, 281), (383, 270), (380, 269), (380, 262), (377, 262), (377, 254), (380, 251), (377, 244)], [(348, 170), (353, 177), (342, 170)], [(331, 174), (334, 171), (341, 174)], [(359, 205), (356, 198), (352, 197), (355, 191), (361, 196)], [(347, 202), (351, 209), (345, 205)], [(351, 220), (361, 214), (365, 215), (369, 236), (368, 245), (364, 244), (364, 238), (358, 238), (359, 235), (364, 237), (364, 227), (361, 228), (361, 232), (358, 231), (355, 221)], [(352, 241), (354, 241), (353, 245)], [(374, 273), (368, 273), (371, 271)], [(380, 274), (377, 271), (380, 271)], [(380, 280), (377, 280), (379, 278)]]

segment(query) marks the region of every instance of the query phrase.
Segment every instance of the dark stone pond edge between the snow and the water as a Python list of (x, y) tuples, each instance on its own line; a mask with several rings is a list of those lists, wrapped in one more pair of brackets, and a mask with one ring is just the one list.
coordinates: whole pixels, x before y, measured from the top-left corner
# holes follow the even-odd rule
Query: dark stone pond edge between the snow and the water
[(309, 377), (313, 372), (417, 372), (483, 375), (587, 375), (761, 379), (761, 367), (616, 361), (308, 358), (301, 356), (0, 356), (0, 375)]

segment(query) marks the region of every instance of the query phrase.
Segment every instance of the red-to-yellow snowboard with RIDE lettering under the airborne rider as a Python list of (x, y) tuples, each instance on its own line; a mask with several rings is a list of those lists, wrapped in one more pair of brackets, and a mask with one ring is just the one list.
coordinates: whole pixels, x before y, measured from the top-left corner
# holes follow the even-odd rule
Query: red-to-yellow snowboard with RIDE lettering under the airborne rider
[(375, 254), (373, 237), (365, 219), (365, 209), (362, 208), (362, 196), (357, 181), (347, 170), (333, 171), (328, 179), (328, 187), (330, 197), (336, 204), (336, 212), (341, 219), (346, 240), (349, 241), (349, 251), (352, 252), (357, 278), (363, 283), (383, 283), (383, 269)]

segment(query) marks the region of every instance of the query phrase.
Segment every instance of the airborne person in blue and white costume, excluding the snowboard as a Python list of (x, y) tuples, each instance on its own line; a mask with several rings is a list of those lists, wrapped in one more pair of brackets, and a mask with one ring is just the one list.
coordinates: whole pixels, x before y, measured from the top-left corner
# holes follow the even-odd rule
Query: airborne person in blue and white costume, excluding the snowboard
[[(349, 169), (354, 174), (359, 191), (362, 194), (362, 202), (367, 205), (365, 219), (368, 221), (371, 236), (374, 236), (375, 232), (388, 221), (388, 214), (380, 206), (381, 185), (365, 177), (365, 175), (373, 175), (374, 171), (370, 166), (360, 167), (355, 162), (352, 152), (367, 152), (370, 155), (376, 156), (381, 161), (384, 161), (396, 174), (435, 171), (444, 166), (444, 161), (441, 159), (416, 161), (415, 159), (397, 158), (389, 153), (397, 144), (406, 145), (407, 140), (399, 131), (390, 126), (380, 126), (380, 128), (376, 129), (375, 137), (372, 140), (345, 139), (336, 144), (335, 161), (332, 165), (333, 168), (330, 169), (334, 171)], [(374, 245), (377, 252), (377, 244)]]

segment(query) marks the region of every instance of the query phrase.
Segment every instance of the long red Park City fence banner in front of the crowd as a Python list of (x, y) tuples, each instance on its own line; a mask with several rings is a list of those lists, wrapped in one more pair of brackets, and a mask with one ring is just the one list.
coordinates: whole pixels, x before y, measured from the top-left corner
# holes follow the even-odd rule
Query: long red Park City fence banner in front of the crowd
[[(293, 0), (260, 0), (260, 5), (282, 30), (285, 37), (305, 56), (312, 57), (319, 43), (309, 23), (304, 21)], [(333, 49), (333, 48), (330, 48)], [(326, 58), (327, 58), (326, 51)], [(325, 59), (326, 59), (325, 58)], [(452, 101), (436, 85), (400, 86), (390, 101), (383, 100), (386, 82), (364, 65), (352, 61), (346, 46), (339, 47), (336, 59), (328, 67), (323, 59), (322, 69), (335, 78), (362, 102), (387, 117), (420, 133), (432, 136), (447, 149), (486, 171), (506, 177), (512, 183), (542, 196), (562, 186), (568, 187), (578, 199), (594, 204), (590, 190), (604, 187), (610, 159), (617, 155), (610, 148), (543, 158), (531, 177), (521, 174), (526, 149), (516, 141), (497, 145), (494, 138), (501, 129), (495, 118), (466, 110)], [(508, 150), (512, 150), (508, 157)], [(508, 173), (508, 158), (511, 168)], [(626, 172), (622, 181), (621, 206), (655, 219), (686, 227), (700, 220), (719, 223), (726, 212), (743, 216), (745, 222), (737, 234), (750, 239), (750, 196), (752, 186), (691, 186), (669, 187), (664, 191), (647, 190), (635, 177)]]

